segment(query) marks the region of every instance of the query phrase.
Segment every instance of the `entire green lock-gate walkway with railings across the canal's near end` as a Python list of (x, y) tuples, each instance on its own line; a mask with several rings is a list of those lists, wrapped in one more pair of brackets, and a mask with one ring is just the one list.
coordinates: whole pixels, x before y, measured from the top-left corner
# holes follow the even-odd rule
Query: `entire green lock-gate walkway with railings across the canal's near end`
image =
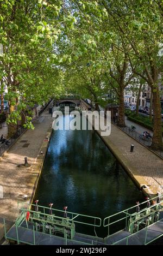
[[(161, 198), (159, 195), (137, 202), (136, 206), (106, 217), (105, 238), (96, 234), (101, 218), (19, 202), (20, 216), (8, 231), (4, 219), (5, 239), (28, 245), (148, 245), (163, 235)], [(77, 233), (76, 223), (93, 227), (95, 236)], [(115, 232), (115, 227), (120, 230)]]

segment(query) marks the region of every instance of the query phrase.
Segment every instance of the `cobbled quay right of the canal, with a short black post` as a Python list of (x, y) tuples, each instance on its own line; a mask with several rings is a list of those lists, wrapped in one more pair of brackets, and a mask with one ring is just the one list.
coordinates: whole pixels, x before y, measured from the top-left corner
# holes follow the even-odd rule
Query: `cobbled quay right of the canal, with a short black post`
[[(110, 145), (114, 153), (122, 160), (124, 165), (139, 182), (145, 182), (149, 187), (147, 193), (163, 194), (163, 160), (156, 156), (148, 148), (132, 139), (115, 125), (111, 125), (110, 136), (104, 136), (103, 140)], [(134, 145), (134, 152), (130, 152), (130, 145)]]

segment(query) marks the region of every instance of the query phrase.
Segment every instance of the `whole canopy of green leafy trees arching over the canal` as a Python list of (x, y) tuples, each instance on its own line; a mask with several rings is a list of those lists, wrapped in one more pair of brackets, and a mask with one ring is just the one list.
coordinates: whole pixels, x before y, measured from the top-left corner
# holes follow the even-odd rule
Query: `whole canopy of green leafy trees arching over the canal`
[(8, 122), (66, 92), (91, 98), (98, 109), (111, 92), (125, 126), (124, 89), (141, 81), (153, 94), (152, 147), (161, 148), (162, 18), (162, 0), (0, 0)]

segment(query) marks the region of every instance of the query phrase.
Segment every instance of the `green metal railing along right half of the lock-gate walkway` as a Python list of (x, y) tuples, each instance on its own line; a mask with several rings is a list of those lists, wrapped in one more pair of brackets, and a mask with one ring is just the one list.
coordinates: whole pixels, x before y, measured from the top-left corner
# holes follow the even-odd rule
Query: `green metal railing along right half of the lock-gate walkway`
[[(157, 203), (158, 201), (158, 203)], [(140, 225), (145, 225), (156, 222), (159, 219), (159, 212), (163, 209), (163, 194), (159, 197), (148, 199), (143, 203), (137, 202), (133, 207), (124, 211), (115, 213), (104, 218), (103, 227), (108, 228), (108, 236), (125, 229), (130, 233), (139, 231)]]

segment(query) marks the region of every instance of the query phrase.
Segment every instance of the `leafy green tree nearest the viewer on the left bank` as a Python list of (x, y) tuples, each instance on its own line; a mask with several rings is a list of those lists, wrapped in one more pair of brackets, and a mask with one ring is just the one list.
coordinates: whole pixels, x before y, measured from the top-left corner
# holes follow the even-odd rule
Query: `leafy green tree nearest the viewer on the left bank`
[[(0, 2), (3, 45), (0, 74), (9, 91), (8, 136), (15, 132), (17, 119), (21, 118), (21, 112), (26, 108), (24, 99), (28, 97), (28, 105), (33, 104), (30, 98), (39, 99), (41, 103), (52, 92), (47, 86), (48, 78), (55, 70), (50, 60), (61, 29), (70, 28), (74, 22), (72, 16), (65, 19), (61, 4), (62, 1), (57, 0)], [(51, 72), (48, 75), (47, 70)], [(33, 127), (32, 123), (28, 122), (28, 127)]]

